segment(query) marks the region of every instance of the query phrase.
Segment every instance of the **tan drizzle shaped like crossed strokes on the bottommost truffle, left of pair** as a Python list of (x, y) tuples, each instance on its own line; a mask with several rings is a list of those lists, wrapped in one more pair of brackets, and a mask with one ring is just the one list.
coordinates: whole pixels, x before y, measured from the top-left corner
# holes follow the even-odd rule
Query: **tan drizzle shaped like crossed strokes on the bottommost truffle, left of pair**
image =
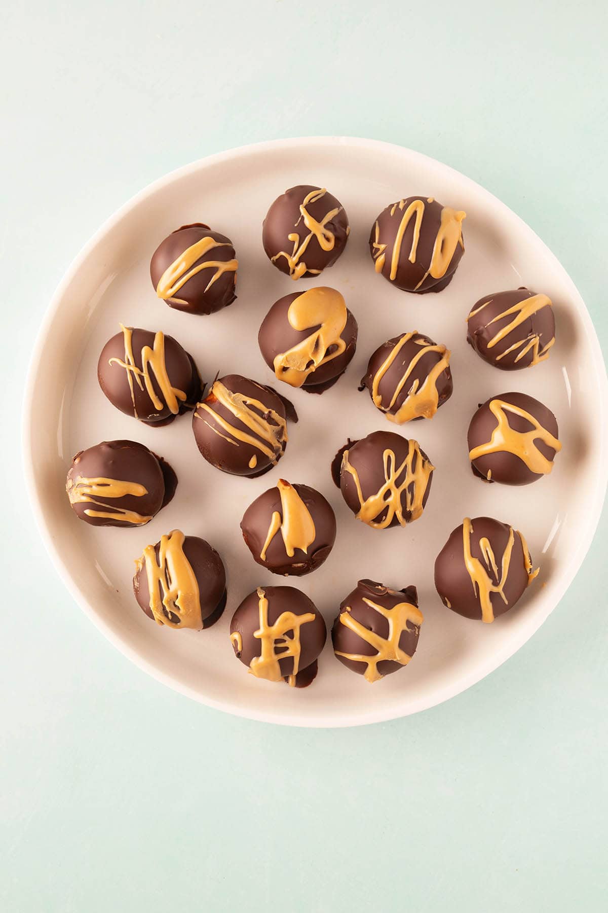
[[(268, 624), (266, 592), (259, 586), (257, 594), (260, 607), (260, 627), (253, 632), (253, 636), (262, 642), (262, 652), (260, 656), (253, 656), (249, 671), (256, 678), (266, 678), (271, 682), (280, 682), (283, 675), (281, 674), (279, 661), (293, 656), (294, 669), (289, 676), (288, 683), (291, 687), (295, 687), (295, 677), (300, 666), (300, 628), (303, 624), (314, 621), (314, 613), (307, 612), (304, 615), (296, 615), (293, 612), (283, 612), (274, 624)], [(288, 631), (293, 632), (292, 637), (287, 636)], [(285, 647), (285, 649), (282, 649), (277, 654), (274, 652), (275, 644)]]

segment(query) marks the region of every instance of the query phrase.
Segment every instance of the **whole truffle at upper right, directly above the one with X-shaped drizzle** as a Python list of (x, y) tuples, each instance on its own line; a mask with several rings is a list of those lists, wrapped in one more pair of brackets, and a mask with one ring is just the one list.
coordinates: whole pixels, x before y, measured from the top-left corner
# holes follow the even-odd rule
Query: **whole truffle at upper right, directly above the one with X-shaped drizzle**
[(555, 341), (551, 299), (525, 288), (480, 298), (467, 324), (467, 341), (475, 352), (503, 371), (544, 362)]

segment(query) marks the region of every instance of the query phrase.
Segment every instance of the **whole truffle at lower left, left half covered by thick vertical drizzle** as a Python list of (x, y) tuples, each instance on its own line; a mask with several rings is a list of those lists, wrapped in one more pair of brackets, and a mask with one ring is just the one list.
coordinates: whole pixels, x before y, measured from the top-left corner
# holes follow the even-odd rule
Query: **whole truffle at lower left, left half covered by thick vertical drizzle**
[(172, 530), (148, 545), (136, 562), (133, 592), (157, 624), (211, 627), (226, 605), (226, 572), (220, 555), (198, 536)]

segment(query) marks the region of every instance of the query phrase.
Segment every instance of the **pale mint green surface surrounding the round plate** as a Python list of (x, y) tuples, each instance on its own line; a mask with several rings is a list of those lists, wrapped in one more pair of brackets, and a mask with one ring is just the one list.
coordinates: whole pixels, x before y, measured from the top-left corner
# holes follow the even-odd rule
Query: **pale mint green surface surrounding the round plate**
[(603, 0), (5, 5), (7, 913), (606, 908), (605, 515), (560, 606), (476, 687), (365, 729), (283, 729), (108, 645), (46, 558), (15, 436), (88, 236), (161, 174), (274, 137), (375, 137), (468, 174), (562, 260), (608, 344), (607, 26)]

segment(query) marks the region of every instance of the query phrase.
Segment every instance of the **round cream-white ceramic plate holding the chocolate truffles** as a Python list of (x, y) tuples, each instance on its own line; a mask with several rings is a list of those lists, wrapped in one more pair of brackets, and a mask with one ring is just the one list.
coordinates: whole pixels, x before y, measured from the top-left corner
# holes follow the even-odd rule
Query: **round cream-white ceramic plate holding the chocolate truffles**
[[(257, 331), (273, 301), (295, 289), (263, 253), (262, 220), (293, 184), (328, 187), (352, 227), (345, 253), (318, 284), (345, 295), (359, 324), (356, 357), (321, 397), (292, 391), (300, 423), (280, 466), (258, 479), (236, 478), (199, 455), (190, 416), (150, 428), (122, 415), (101, 393), (98, 353), (119, 321), (175, 336), (204, 379), (273, 374)], [(377, 213), (410, 194), (465, 209), (466, 253), (448, 289), (417, 297), (377, 276), (367, 238)], [(238, 299), (211, 317), (170, 310), (156, 298), (149, 258), (174, 228), (204, 221), (232, 238), (239, 257)], [(313, 283), (314, 284), (314, 283)], [(557, 341), (547, 362), (515, 373), (482, 362), (466, 340), (469, 306), (489, 291), (527, 285), (554, 302)], [(415, 436), (437, 467), (424, 516), (407, 529), (377, 531), (358, 522), (334, 487), (329, 465), (347, 436), (396, 430), (357, 384), (376, 346), (418, 330), (452, 351), (455, 390), (433, 421), (401, 430)], [(477, 404), (520, 390), (558, 418), (562, 453), (553, 473), (525, 488), (484, 485), (469, 468), (466, 433)], [(383, 142), (340, 137), (268, 142), (211, 156), (171, 173), (123, 206), (68, 269), (40, 331), (26, 399), (26, 476), (37, 519), (59, 573), (84, 611), (133, 662), (170, 687), (244, 717), (298, 726), (351, 726), (431, 707), (500, 666), (538, 629), (562, 597), (593, 538), (603, 502), (608, 385), (602, 354), (581, 296), (555, 257), (507, 206), (446, 165)], [(94, 529), (76, 519), (65, 494), (70, 458), (101, 440), (132, 438), (167, 457), (180, 478), (176, 497), (148, 526)], [(325, 614), (361, 577), (394, 588), (415, 583), (425, 616), (416, 656), (395, 675), (368, 685), (335, 660), (331, 643), (312, 687), (297, 690), (247, 675), (232, 655), (232, 612), (255, 586), (283, 582), (252, 561), (239, 522), (253, 498), (278, 477), (305, 482), (330, 499), (338, 520), (335, 549), (301, 587)], [(465, 516), (488, 514), (524, 532), (541, 573), (520, 603), (494, 624), (449, 612), (433, 586), (435, 556)], [(228, 606), (205, 632), (153, 624), (131, 590), (133, 561), (175, 527), (220, 551)]]

